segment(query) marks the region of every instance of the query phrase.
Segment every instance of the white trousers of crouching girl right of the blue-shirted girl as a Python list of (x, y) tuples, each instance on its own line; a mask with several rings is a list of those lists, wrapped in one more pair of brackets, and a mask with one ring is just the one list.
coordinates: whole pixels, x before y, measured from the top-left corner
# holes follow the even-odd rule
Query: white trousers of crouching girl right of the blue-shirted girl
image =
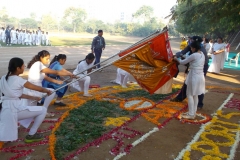
[[(83, 76), (85, 76), (85, 75), (84, 74), (79, 75), (79, 77), (83, 77)], [(91, 78), (89, 76), (86, 76), (86, 77), (80, 79), (79, 81), (73, 83), (71, 85), (71, 87), (78, 90), (79, 92), (83, 91), (84, 94), (88, 94), (90, 80), (91, 80)]]

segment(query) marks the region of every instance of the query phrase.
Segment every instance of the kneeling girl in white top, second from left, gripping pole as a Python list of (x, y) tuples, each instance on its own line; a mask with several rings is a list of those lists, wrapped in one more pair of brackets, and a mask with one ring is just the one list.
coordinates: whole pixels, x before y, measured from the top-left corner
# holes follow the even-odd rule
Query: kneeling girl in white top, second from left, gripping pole
[[(57, 83), (57, 84), (63, 83), (63, 81), (52, 79), (52, 78), (46, 76), (45, 74), (55, 74), (55, 75), (59, 75), (59, 76), (73, 77), (73, 74), (70, 72), (65, 72), (64, 70), (56, 71), (56, 70), (47, 68), (45, 65), (49, 64), (49, 59), (50, 59), (50, 54), (46, 50), (40, 51), (36, 56), (33, 57), (33, 59), (27, 65), (27, 68), (29, 68), (29, 73), (28, 73), (28, 81), (29, 82), (42, 87), (43, 79), (46, 81), (49, 81), (49, 82)], [(49, 88), (49, 90), (53, 91), (53, 89), (50, 89), (50, 88)], [(27, 95), (31, 95), (31, 96), (33, 96), (33, 95), (35, 95), (35, 96), (37, 95), (39, 97), (44, 96), (41, 92), (30, 90), (30, 89), (25, 89), (24, 93)], [(55, 96), (55, 93), (45, 98), (43, 105), (46, 108), (48, 108), (48, 106), (50, 105), (54, 96)], [(37, 105), (37, 102), (32, 103), (32, 101), (26, 100), (25, 104), (28, 104), (31, 106), (31, 105)], [(53, 116), (54, 116), (54, 114), (47, 113), (47, 117), (53, 117)]]

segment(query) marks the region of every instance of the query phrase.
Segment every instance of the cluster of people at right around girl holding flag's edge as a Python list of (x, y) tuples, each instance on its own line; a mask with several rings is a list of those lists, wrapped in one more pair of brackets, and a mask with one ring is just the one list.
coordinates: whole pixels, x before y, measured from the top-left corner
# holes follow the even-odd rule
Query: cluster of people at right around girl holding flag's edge
[[(182, 38), (181, 51), (176, 53), (174, 60), (180, 65), (186, 65), (187, 78), (180, 93), (171, 101), (182, 102), (188, 98), (189, 111), (182, 115), (185, 119), (195, 119), (197, 109), (203, 108), (205, 94), (205, 77), (207, 72), (220, 73), (225, 60), (228, 60), (230, 44), (223, 43), (219, 37), (215, 43), (199, 36)], [(185, 48), (183, 48), (185, 47)], [(210, 66), (209, 55), (212, 58)], [(176, 75), (177, 76), (177, 75)], [(176, 77), (175, 76), (175, 77)]]

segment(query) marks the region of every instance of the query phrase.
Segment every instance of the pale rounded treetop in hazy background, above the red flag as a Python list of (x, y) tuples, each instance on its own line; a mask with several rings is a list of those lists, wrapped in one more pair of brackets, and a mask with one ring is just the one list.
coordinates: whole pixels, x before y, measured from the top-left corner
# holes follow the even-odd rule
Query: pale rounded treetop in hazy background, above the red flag
[(134, 14), (134, 18), (142, 18), (145, 21), (150, 20), (151, 15), (153, 15), (153, 8), (151, 6), (143, 5)]

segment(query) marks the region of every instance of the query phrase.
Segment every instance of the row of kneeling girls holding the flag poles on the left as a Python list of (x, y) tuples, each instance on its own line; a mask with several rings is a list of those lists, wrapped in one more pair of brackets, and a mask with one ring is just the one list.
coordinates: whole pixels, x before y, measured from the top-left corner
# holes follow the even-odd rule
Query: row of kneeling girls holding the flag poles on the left
[[(87, 54), (86, 58), (77, 64), (73, 73), (63, 68), (67, 60), (65, 54), (55, 56), (50, 62), (50, 53), (42, 50), (32, 58), (27, 66), (21, 58), (12, 58), (9, 61), (8, 73), (0, 80), (0, 141), (17, 140), (18, 123), (28, 128), (32, 121), (33, 124), (25, 137), (25, 142), (42, 140), (43, 135), (37, 133), (39, 126), (45, 117), (55, 116), (48, 113), (48, 107), (55, 96), (55, 106), (66, 106), (61, 99), (68, 87), (82, 91), (83, 96), (92, 96), (88, 93), (90, 77), (87, 74), (94, 69), (94, 64), (96, 64), (97, 53), (95, 52), (99, 48), (95, 47), (103, 47), (98, 43), (100, 43), (98, 40), (93, 43), (93, 53)], [(25, 67), (29, 69), (27, 80), (19, 76), (24, 72)], [(65, 76), (72, 80), (70, 85), (66, 85)], [(129, 74), (118, 69), (116, 82), (126, 87), (128, 77)], [(54, 91), (56, 89), (58, 90)]]

